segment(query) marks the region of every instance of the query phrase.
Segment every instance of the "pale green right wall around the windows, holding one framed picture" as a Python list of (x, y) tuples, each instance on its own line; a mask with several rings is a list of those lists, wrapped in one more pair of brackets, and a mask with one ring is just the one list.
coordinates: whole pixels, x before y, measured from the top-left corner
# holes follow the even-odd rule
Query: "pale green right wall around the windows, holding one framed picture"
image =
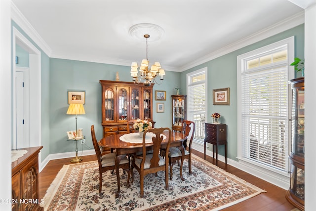
[[(304, 58), (304, 24), (272, 36), (260, 42), (240, 48), (197, 67), (181, 73), (181, 81), (186, 81), (186, 74), (207, 67), (207, 112), (206, 122), (211, 122), (210, 115), (218, 112), (222, 115), (220, 121), (227, 124), (228, 158), (237, 160), (237, 56), (265, 45), (295, 36), (295, 56)], [(298, 74), (297, 77), (301, 77)], [(185, 85), (182, 84), (181, 87)], [(230, 87), (230, 105), (213, 105), (213, 89)], [(185, 94), (185, 93), (183, 93)], [(219, 146), (219, 154), (225, 155), (224, 145)]]

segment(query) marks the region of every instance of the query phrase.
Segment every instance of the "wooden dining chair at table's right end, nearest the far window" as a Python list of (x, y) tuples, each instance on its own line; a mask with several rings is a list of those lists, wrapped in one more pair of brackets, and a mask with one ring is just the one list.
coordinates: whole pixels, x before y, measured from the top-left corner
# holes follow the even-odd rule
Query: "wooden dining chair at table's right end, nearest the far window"
[[(191, 170), (191, 154), (192, 154), (192, 141), (194, 137), (194, 132), (196, 125), (194, 122), (189, 120), (183, 120), (182, 121), (182, 127), (181, 132), (184, 133), (188, 139), (187, 142), (184, 144), (184, 158), (189, 160), (189, 174), (192, 173)], [(189, 142), (189, 143), (188, 143)], [(187, 147), (188, 145), (188, 147)], [(170, 180), (172, 180), (172, 167), (173, 164), (181, 160), (181, 151), (177, 147), (170, 147), (169, 149), (169, 165), (170, 165)]]

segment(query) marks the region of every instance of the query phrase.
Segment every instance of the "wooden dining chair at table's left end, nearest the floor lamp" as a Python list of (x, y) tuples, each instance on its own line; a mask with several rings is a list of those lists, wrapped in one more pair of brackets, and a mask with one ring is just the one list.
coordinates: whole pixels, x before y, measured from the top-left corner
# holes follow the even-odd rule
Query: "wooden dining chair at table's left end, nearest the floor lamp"
[[(97, 155), (98, 164), (99, 164), (99, 173), (100, 173), (100, 184), (99, 184), (99, 193), (101, 193), (102, 190), (102, 173), (106, 172), (107, 170), (114, 170), (115, 169), (115, 160), (117, 159), (117, 155), (115, 152), (113, 153), (107, 153), (107, 154), (101, 154), (100, 147), (98, 144), (98, 141), (95, 137), (95, 131), (94, 131), (94, 125), (91, 126), (91, 137), (92, 137), (92, 143), (95, 150), (95, 153)], [(130, 170), (129, 170), (129, 161), (126, 158), (126, 155), (120, 155), (121, 160), (119, 162), (119, 169), (127, 170), (127, 187), (129, 187), (129, 177), (130, 177)], [(119, 173), (117, 173), (117, 179), (118, 179), (118, 190), (119, 190)], [(116, 196), (118, 197), (118, 196)]]

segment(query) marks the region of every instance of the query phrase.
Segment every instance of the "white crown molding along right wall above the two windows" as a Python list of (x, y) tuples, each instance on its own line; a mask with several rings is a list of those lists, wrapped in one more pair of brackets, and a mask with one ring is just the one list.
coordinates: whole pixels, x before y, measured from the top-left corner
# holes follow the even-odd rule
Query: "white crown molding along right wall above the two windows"
[(267, 39), (271, 36), (274, 36), (278, 33), (284, 32), (288, 29), (294, 28), (298, 25), (301, 25), (305, 23), (305, 11), (299, 12), (287, 19), (284, 19), (283, 21), (280, 21), (266, 29), (260, 30), (257, 33), (254, 33), (244, 39), (239, 40), (238, 42), (234, 42), (230, 45), (227, 45), (221, 49), (218, 49), (212, 53), (209, 53), (203, 57), (201, 57), (198, 60), (192, 61), (190, 63), (187, 63), (183, 65), (180, 68), (180, 72), (186, 71), (190, 68), (196, 67), (197, 65), (203, 64), (205, 62), (208, 62), (210, 60), (213, 60), (215, 58), (218, 58), (220, 56), (226, 55), (228, 53), (231, 53), (235, 50), (238, 50), (242, 47), (245, 47), (247, 45), (253, 44), (255, 42), (262, 41), (264, 39)]

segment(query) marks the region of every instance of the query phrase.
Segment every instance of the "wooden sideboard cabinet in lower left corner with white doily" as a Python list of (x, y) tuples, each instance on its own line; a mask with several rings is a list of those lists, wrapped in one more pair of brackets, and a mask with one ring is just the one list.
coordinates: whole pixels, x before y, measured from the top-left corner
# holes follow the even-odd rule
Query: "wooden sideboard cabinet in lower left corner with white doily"
[(41, 211), (39, 199), (40, 147), (18, 150), (28, 151), (12, 162), (12, 211)]

